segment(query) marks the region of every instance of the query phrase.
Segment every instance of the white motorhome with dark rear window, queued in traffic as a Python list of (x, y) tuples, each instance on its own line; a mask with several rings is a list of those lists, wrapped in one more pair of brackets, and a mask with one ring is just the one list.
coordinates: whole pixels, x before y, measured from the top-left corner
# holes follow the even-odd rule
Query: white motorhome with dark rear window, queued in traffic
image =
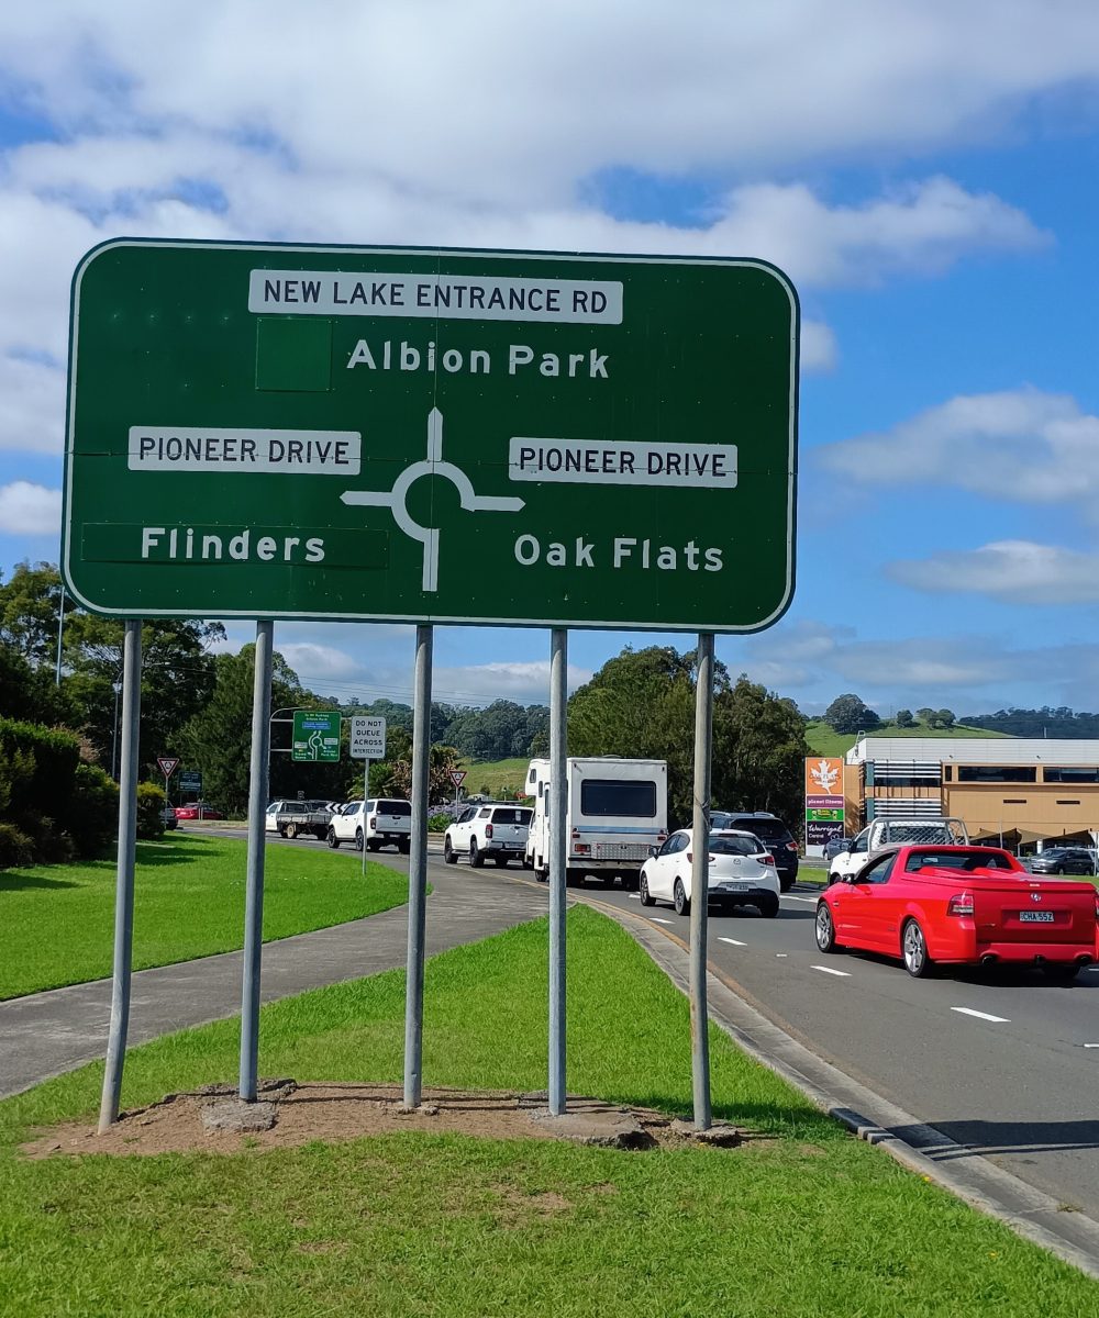
[[(623, 759), (617, 755), (570, 757), (565, 859), (569, 883), (582, 883), (586, 874), (633, 891), (649, 849), (668, 837), (668, 762)], [(526, 863), (540, 882), (549, 879), (550, 863), (550, 766), (532, 759), (526, 771), (526, 795), (534, 815), (526, 841)]]

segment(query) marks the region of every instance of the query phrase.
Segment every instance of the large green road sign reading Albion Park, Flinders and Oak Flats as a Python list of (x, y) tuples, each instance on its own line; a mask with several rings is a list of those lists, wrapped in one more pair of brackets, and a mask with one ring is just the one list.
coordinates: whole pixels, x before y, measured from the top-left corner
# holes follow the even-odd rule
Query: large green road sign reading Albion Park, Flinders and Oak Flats
[(66, 584), (141, 617), (764, 627), (797, 336), (757, 261), (108, 243), (73, 281)]

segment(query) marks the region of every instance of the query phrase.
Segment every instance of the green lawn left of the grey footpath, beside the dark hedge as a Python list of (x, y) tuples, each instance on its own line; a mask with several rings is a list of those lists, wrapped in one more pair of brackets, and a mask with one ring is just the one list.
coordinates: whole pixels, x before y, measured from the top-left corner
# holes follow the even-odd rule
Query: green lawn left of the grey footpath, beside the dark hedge
[[(115, 929), (111, 861), (0, 871), (0, 999), (111, 974)], [(137, 844), (133, 969), (232, 952), (244, 936), (245, 844), (168, 834)], [(326, 847), (270, 846), (264, 938), (323, 929), (388, 911), (408, 880)]]

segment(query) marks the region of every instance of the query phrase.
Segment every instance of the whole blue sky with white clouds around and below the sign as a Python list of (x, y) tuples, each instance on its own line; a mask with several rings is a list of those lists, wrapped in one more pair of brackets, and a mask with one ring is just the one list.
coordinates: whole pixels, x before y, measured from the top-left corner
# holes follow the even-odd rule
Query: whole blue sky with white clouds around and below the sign
[[(806, 322), (798, 588), (718, 656), (806, 712), (1099, 706), (1094, 0), (13, 9), (5, 575), (58, 558), (67, 286), (106, 237), (753, 256)], [(650, 641), (574, 631), (573, 683)], [(410, 689), (410, 629), (276, 643), (317, 691)], [(544, 700), (548, 647), (439, 627), (437, 696)]]

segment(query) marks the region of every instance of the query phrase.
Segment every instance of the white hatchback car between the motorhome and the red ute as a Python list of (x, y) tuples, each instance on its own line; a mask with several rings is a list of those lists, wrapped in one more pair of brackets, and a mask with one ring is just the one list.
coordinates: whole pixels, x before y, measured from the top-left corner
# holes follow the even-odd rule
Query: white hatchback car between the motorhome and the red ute
[[(678, 915), (691, 908), (691, 829), (679, 829), (653, 847), (641, 866), (641, 905), (670, 902)], [(778, 915), (781, 882), (774, 857), (753, 833), (722, 829), (710, 833), (710, 905), (753, 905), (769, 919)]]

